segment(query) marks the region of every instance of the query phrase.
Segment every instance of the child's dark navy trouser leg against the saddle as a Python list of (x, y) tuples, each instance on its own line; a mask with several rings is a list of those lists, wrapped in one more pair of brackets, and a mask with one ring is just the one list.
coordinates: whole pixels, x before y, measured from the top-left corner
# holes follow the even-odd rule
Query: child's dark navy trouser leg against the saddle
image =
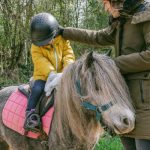
[(45, 87), (45, 81), (35, 80), (28, 100), (27, 111), (35, 109)]

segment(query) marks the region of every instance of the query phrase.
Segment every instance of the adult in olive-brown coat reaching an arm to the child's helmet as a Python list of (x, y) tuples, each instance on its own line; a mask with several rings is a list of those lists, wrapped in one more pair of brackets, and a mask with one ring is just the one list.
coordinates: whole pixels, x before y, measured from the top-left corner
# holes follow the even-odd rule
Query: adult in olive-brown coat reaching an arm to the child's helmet
[(114, 45), (115, 63), (124, 75), (136, 109), (135, 129), (121, 137), (126, 150), (150, 149), (150, 2), (103, 0), (109, 26), (94, 31), (61, 28), (64, 38), (82, 43)]

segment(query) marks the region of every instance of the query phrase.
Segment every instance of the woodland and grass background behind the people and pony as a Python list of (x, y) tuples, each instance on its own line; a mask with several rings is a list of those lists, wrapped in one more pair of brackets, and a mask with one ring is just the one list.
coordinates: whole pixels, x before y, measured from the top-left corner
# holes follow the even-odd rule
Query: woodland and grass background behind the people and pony
[[(108, 25), (108, 14), (97, 0), (0, 0), (0, 89), (27, 83), (32, 76), (30, 21), (49, 12), (63, 27), (100, 30)], [(71, 42), (76, 58), (85, 51), (105, 49)], [(120, 140), (106, 134), (96, 150), (122, 150)]]

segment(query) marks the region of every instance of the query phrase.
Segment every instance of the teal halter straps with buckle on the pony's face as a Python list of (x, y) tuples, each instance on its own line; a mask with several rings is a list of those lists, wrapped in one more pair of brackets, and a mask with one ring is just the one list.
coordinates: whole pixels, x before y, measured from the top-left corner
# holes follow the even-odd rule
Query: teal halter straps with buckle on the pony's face
[(107, 111), (111, 106), (113, 106), (112, 102), (109, 102), (104, 105), (93, 105), (90, 102), (84, 101), (81, 93), (81, 84), (80, 80), (76, 80), (75, 82), (77, 93), (79, 94), (80, 98), (82, 99), (81, 106), (86, 108), (87, 110), (92, 110), (96, 112), (96, 120), (102, 123), (102, 112)]

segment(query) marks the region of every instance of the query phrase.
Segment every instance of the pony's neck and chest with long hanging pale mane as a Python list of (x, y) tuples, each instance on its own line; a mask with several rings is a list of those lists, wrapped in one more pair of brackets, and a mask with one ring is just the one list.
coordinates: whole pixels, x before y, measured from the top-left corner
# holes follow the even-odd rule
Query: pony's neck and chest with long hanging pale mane
[[(71, 68), (70, 68), (71, 69)], [(55, 94), (55, 112), (51, 138), (65, 145), (66, 149), (91, 148), (99, 138), (101, 127), (91, 112), (81, 107), (81, 98), (76, 93), (74, 72), (66, 70)], [(54, 137), (52, 137), (54, 136)]]

